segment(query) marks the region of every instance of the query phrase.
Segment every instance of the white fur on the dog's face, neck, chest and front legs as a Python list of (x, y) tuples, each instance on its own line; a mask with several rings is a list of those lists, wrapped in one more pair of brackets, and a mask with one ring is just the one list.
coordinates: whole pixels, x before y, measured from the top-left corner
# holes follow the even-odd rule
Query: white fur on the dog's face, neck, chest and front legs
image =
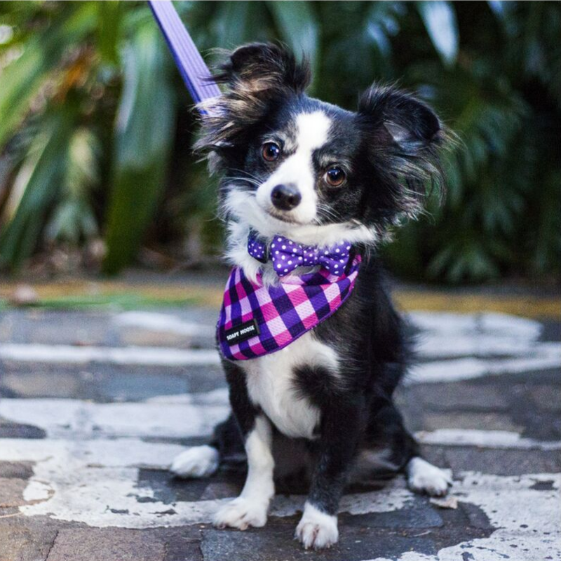
[[(262, 264), (248, 254), (248, 234), (254, 229), (270, 241), (283, 235), (299, 243), (325, 247), (339, 241), (372, 243), (374, 232), (361, 224), (314, 224), (317, 219), (316, 173), (313, 150), (327, 142), (331, 121), (320, 111), (297, 116), (295, 154), (259, 186), (256, 192), (241, 191), (231, 186), (224, 201), (229, 223), (230, 262), (243, 268), (250, 280), (262, 273), (265, 284), (278, 283), (271, 264)], [(302, 202), (287, 212), (290, 222), (277, 219), (271, 205), (271, 191), (278, 184), (296, 184)], [(302, 274), (309, 268), (298, 268), (292, 274)], [(262, 409), (278, 431), (290, 438), (314, 438), (320, 420), (318, 407), (297, 395), (294, 370), (299, 365), (321, 365), (339, 380), (339, 359), (336, 351), (319, 342), (313, 332), (299, 337), (286, 349), (239, 363), (246, 374), (248, 394), (252, 403)], [(261, 527), (266, 523), (269, 502), (274, 494), (271, 454), (271, 427), (264, 417), (258, 417), (254, 430), (245, 442), (248, 454), (248, 477), (237, 499), (220, 508), (215, 516), (217, 527)], [(297, 537), (306, 548), (330, 547), (338, 539), (337, 518), (318, 511), (306, 503), (304, 515), (297, 527)]]

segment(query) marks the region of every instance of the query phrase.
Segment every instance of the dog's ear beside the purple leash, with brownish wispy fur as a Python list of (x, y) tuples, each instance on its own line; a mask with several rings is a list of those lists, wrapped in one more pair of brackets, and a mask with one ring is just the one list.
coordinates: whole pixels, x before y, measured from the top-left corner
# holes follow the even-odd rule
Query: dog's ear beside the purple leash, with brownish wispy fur
[(274, 43), (250, 43), (230, 53), (215, 75), (226, 90), (203, 102), (202, 135), (195, 145), (218, 158), (248, 141), (274, 102), (303, 93), (310, 82), (309, 65)]

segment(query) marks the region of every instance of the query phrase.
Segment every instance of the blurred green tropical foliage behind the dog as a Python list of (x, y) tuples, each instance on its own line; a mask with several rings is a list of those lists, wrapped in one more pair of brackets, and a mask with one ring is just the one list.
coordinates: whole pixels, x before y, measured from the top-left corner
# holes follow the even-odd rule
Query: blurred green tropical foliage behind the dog
[[(280, 39), (311, 93), (372, 81), (432, 104), (461, 140), (448, 195), (384, 248), (402, 278), (555, 280), (561, 269), (559, 2), (183, 1), (213, 48)], [(0, 268), (198, 266), (219, 255), (196, 115), (143, 2), (0, 2)], [(205, 257), (204, 262), (208, 262)]]

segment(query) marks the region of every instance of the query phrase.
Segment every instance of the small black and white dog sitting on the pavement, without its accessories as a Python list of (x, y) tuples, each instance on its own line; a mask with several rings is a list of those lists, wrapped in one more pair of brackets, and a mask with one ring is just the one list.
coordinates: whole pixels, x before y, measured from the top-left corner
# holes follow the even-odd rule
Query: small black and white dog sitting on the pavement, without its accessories
[[(215, 525), (246, 529), (266, 523), (277, 475), (308, 468), (296, 536), (305, 548), (327, 548), (337, 542), (339, 499), (360, 461), (405, 471), (416, 492), (442, 495), (451, 483), (421, 459), (393, 404), (408, 345), (376, 257), (388, 228), (421, 210), (426, 184), (440, 187), (446, 135), (408, 93), (372, 86), (352, 112), (306, 96), (309, 79), (306, 63), (283, 47), (238, 48), (217, 76), (227, 90), (206, 105), (198, 148), (222, 174), (228, 258), (247, 279), (275, 286), (286, 278), (248, 253), (250, 235), (316, 249), (344, 241), (362, 257), (353, 291), (283, 349), (224, 359), (231, 417), (212, 444), (183, 452), (171, 470), (208, 476), (245, 448), (243, 491)], [(318, 269), (299, 266), (288, 278)]]

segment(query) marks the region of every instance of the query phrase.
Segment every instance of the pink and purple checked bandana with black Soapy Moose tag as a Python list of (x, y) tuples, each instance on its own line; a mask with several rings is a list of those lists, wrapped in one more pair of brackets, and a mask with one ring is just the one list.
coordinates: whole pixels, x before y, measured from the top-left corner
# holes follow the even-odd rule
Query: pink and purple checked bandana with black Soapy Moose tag
[(337, 311), (353, 290), (359, 266), (356, 255), (342, 274), (322, 268), (281, 278), (276, 286), (264, 286), (261, 276), (252, 283), (234, 267), (217, 325), (222, 355), (248, 360), (283, 349)]

